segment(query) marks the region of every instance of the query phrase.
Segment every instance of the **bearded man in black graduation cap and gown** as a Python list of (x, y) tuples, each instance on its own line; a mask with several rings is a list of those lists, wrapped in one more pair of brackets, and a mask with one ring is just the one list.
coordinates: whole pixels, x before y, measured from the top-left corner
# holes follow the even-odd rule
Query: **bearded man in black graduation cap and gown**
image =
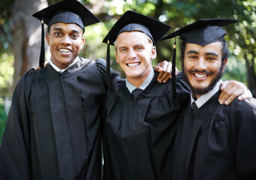
[(173, 179), (256, 179), (256, 100), (218, 104), (229, 51), (221, 26), (235, 20), (198, 20), (164, 37), (182, 40), (181, 61), (191, 89), (179, 121)]

